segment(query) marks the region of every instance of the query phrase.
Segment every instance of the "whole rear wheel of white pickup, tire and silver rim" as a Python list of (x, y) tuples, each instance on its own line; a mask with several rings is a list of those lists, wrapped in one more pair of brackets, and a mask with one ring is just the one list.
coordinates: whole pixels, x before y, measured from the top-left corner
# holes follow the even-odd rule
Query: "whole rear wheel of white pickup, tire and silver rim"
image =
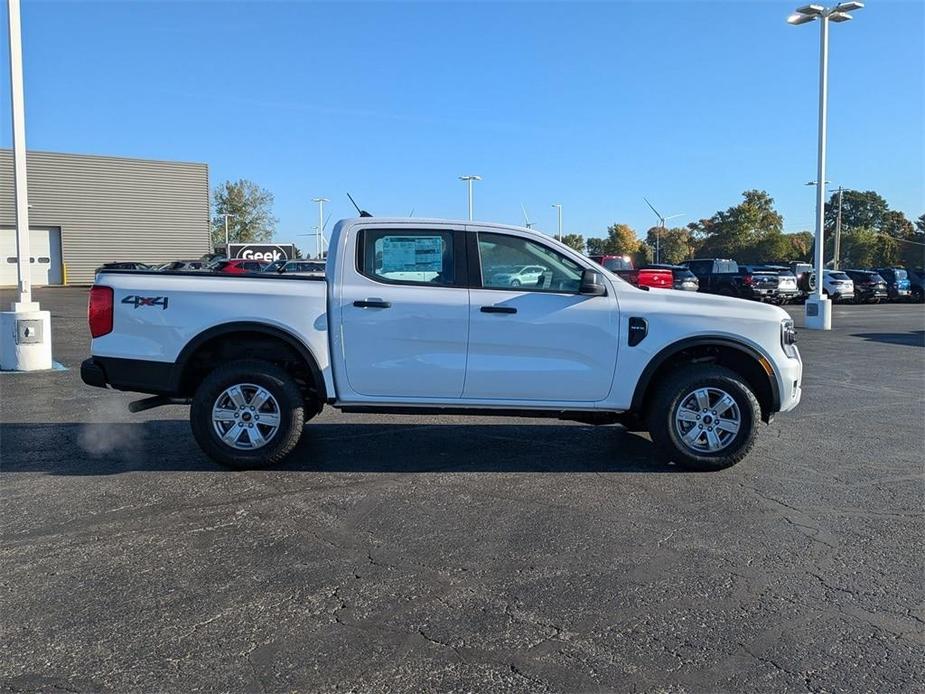
[(252, 468), (279, 462), (295, 448), (305, 423), (302, 393), (280, 367), (233, 361), (203, 379), (190, 425), (206, 455), (222, 465)]

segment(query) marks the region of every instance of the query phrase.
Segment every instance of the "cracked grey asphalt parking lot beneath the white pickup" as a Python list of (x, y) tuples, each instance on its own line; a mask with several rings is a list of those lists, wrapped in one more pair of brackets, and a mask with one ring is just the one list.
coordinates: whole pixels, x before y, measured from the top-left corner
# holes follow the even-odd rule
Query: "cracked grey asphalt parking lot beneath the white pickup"
[(800, 331), (803, 404), (718, 473), (330, 409), (233, 473), (83, 386), (85, 290), (38, 297), (69, 370), (0, 374), (2, 691), (922, 691), (921, 305)]

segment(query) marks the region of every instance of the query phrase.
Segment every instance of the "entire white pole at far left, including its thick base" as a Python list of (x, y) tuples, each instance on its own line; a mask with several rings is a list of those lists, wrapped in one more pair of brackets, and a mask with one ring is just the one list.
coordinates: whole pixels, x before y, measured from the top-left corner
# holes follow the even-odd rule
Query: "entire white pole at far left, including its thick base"
[(13, 186), (16, 206), (17, 297), (0, 314), (0, 369), (50, 369), (51, 313), (32, 300), (29, 239), (29, 186), (26, 180), (26, 104), (22, 76), (22, 27), (19, 0), (7, 0), (10, 43), (10, 105), (13, 122)]

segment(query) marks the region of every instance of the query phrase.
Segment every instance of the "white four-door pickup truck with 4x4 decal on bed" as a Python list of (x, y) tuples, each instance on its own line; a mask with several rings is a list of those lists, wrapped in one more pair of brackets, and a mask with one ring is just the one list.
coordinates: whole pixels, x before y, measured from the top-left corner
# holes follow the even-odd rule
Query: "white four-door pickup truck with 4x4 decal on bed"
[(88, 314), (84, 382), (154, 395), (135, 411), (191, 404), (199, 445), (237, 468), (281, 460), (330, 405), (639, 424), (719, 469), (801, 394), (780, 308), (633, 287), (496, 224), (343, 220), (324, 277), (107, 270)]

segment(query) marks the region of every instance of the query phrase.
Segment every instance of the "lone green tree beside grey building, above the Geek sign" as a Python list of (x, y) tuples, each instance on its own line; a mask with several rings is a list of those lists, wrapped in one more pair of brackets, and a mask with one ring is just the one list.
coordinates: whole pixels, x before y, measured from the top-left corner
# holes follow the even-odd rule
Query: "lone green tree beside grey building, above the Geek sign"
[(253, 181), (225, 181), (212, 191), (212, 245), (225, 243), (225, 214), (231, 243), (271, 241), (277, 219), (273, 193)]

